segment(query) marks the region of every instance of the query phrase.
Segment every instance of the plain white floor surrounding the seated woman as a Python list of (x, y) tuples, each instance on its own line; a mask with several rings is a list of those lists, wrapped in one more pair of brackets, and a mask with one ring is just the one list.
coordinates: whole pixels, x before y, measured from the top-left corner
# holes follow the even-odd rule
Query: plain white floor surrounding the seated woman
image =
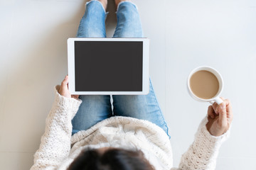
[[(210, 65), (223, 74), (233, 103), (230, 139), (217, 168), (256, 167), (256, 1), (134, 0), (151, 40), (150, 75), (170, 127), (174, 165), (193, 142), (208, 103), (194, 101), (186, 78)], [(84, 0), (0, 1), (0, 169), (33, 164), (53, 102), (53, 86), (67, 74), (66, 40), (74, 37)], [(109, 2), (107, 35), (114, 4)]]

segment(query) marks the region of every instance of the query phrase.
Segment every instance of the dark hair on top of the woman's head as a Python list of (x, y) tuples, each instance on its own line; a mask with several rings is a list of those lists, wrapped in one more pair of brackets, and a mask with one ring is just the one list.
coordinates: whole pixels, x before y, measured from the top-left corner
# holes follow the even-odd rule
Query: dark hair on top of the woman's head
[(154, 170), (142, 151), (107, 149), (103, 154), (88, 149), (70, 164), (68, 170)]

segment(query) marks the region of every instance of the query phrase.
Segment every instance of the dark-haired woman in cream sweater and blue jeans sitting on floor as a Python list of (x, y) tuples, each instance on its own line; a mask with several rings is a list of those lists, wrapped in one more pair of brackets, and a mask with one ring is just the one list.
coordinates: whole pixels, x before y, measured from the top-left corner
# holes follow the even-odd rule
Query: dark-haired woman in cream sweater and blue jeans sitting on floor
[[(114, 38), (140, 38), (137, 6), (116, 0)], [(78, 37), (105, 38), (107, 0), (87, 3)], [(175, 169), (168, 127), (150, 81), (148, 95), (72, 96), (68, 76), (55, 87), (46, 132), (31, 169)], [(208, 108), (193, 144), (178, 169), (215, 169), (233, 119), (230, 101)]]

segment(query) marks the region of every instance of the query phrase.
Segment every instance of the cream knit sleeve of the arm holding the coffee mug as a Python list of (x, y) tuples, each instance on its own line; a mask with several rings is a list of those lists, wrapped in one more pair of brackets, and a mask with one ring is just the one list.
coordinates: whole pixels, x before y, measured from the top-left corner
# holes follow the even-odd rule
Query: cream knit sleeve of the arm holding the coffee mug
[[(215, 137), (206, 129), (207, 118), (201, 122), (195, 140), (182, 155), (181, 162), (176, 170), (215, 169), (220, 145), (229, 137), (230, 129), (225, 134)], [(172, 170), (175, 170), (172, 169)]]

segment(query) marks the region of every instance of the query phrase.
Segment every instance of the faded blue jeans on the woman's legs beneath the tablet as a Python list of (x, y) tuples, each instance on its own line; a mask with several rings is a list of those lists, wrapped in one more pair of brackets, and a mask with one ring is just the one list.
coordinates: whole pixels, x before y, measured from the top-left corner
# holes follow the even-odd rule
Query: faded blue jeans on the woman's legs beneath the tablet
[[(107, 13), (100, 1), (87, 2), (85, 15), (80, 21), (77, 36), (80, 38), (105, 38), (106, 17)], [(129, 1), (119, 3), (117, 28), (113, 37), (143, 37), (137, 6)], [(73, 134), (80, 130), (87, 130), (92, 125), (112, 116), (128, 116), (149, 120), (151, 123), (159, 125), (169, 135), (166, 121), (154, 94), (151, 79), (149, 79), (149, 94), (147, 95), (113, 95), (113, 111), (110, 95), (81, 95), (79, 98), (82, 103), (72, 120)]]

